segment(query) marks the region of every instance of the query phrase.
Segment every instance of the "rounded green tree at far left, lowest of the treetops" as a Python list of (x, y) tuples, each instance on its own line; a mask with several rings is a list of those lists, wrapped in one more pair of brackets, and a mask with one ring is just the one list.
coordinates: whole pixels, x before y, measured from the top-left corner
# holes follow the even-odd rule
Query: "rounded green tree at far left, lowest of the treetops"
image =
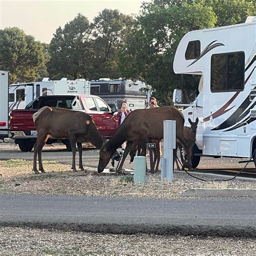
[(45, 70), (44, 46), (19, 28), (0, 30), (0, 66), (10, 72), (10, 83), (34, 81)]

